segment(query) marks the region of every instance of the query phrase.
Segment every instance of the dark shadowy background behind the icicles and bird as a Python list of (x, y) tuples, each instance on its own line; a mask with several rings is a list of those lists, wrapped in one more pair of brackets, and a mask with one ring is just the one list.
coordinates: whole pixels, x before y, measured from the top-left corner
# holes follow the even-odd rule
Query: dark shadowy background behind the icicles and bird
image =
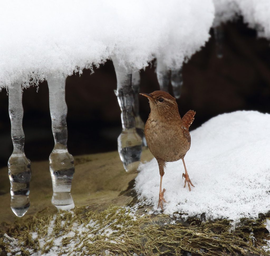
[[(223, 58), (217, 58), (212, 37), (201, 51), (183, 65), (183, 87), (177, 100), (180, 115), (193, 109), (200, 126), (215, 115), (235, 110), (270, 113), (270, 42), (239, 19), (223, 26)], [(85, 70), (66, 80), (68, 149), (73, 155), (117, 150), (122, 130), (120, 108), (114, 94), (116, 75), (111, 61), (94, 73)], [(141, 71), (140, 92), (158, 90), (154, 67)], [(171, 89), (171, 88), (170, 88)], [(172, 92), (172, 91), (170, 91)], [(31, 160), (48, 159), (54, 146), (46, 82), (23, 92), (25, 154)], [(146, 121), (149, 103), (140, 99), (140, 115)], [(268, 136), (268, 135), (266, 135)], [(13, 150), (8, 116), (8, 95), (0, 92), (0, 167)]]

